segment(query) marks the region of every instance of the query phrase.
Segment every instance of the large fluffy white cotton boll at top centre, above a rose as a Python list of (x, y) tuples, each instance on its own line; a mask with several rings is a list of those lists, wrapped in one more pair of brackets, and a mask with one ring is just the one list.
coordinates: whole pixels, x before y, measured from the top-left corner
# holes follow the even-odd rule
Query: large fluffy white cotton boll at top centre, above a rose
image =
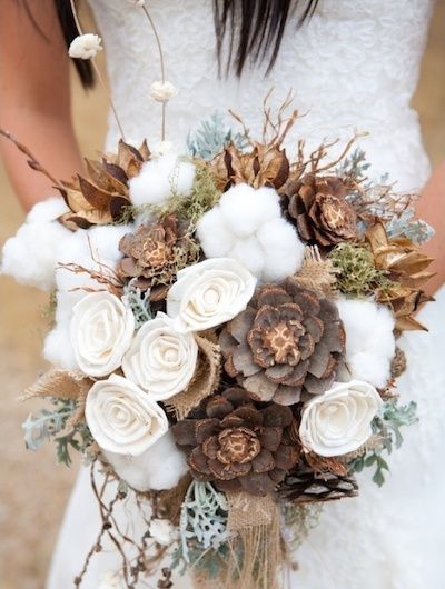
[(207, 258), (238, 260), (263, 281), (283, 280), (303, 263), (305, 246), (271, 188), (230, 188), (201, 218), (197, 234)]

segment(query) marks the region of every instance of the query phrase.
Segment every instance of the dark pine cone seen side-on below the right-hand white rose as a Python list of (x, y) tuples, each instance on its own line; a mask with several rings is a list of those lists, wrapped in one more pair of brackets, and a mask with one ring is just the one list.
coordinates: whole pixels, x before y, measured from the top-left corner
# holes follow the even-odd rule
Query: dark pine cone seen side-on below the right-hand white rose
[(291, 469), (278, 488), (280, 499), (295, 503), (335, 501), (357, 495), (358, 485), (350, 475), (317, 473), (304, 463)]

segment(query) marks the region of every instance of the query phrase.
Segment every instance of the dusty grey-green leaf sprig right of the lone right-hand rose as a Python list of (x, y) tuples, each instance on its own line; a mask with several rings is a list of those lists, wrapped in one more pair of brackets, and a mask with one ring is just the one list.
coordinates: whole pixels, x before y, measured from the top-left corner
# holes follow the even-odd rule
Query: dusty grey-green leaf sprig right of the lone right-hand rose
[(385, 471), (389, 471), (389, 466), (382, 453), (386, 451), (390, 455), (393, 450), (400, 448), (403, 443), (400, 428), (413, 426), (418, 421), (416, 411), (417, 406), (413, 401), (405, 406), (397, 405), (395, 400), (387, 401), (373, 421), (373, 432), (378, 440), (376, 447), (353, 460), (349, 465), (352, 470), (362, 472), (365, 467), (374, 468), (373, 481), (382, 487), (385, 482)]

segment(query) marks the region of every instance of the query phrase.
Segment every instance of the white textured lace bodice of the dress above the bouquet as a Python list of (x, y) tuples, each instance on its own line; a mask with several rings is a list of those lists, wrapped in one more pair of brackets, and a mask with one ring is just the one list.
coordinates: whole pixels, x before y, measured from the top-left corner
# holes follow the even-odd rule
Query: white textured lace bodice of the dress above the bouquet
[[(159, 141), (159, 109), (148, 97), (159, 79), (155, 39), (140, 9), (127, 0), (90, 0), (103, 37), (117, 109), (126, 134)], [(214, 111), (236, 110), (253, 131), (261, 126), (261, 102), (274, 87), (280, 103), (289, 90), (307, 113), (296, 132), (315, 147), (324, 138), (346, 140), (354, 130), (374, 173), (390, 172), (400, 188), (423, 184), (428, 164), (415, 90), (432, 0), (319, 0), (313, 19), (297, 30), (288, 23), (271, 74), (251, 68), (241, 80), (218, 78), (210, 0), (150, 0), (167, 63), (167, 78), (180, 89), (168, 107), (169, 139), (184, 140)], [(118, 133), (110, 118), (108, 147)], [(294, 136), (295, 137), (295, 136)]]

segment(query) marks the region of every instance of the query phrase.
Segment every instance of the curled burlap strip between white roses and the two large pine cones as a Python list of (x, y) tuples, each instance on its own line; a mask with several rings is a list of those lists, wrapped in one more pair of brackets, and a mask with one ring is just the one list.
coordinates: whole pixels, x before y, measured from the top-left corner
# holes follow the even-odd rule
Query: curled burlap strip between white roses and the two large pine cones
[(198, 366), (195, 378), (187, 390), (175, 395), (168, 400), (167, 409), (175, 413), (176, 419), (185, 419), (188, 413), (211, 395), (219, 386), (221, 353), (219, 345), (211, 341), (211, 336), (196, 336), (199, 348)]

